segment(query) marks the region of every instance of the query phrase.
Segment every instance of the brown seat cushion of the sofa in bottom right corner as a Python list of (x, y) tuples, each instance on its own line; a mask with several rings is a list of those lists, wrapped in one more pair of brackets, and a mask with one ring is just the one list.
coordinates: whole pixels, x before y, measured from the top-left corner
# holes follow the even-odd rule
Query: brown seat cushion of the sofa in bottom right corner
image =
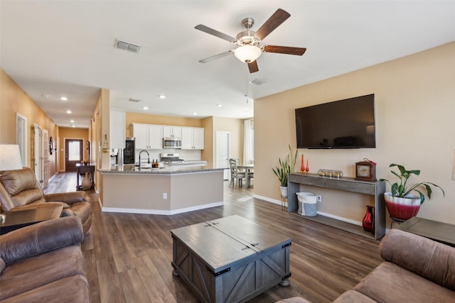
[(353, 290), (376, 302), (455, 302), (455, 292), (387, 261)]

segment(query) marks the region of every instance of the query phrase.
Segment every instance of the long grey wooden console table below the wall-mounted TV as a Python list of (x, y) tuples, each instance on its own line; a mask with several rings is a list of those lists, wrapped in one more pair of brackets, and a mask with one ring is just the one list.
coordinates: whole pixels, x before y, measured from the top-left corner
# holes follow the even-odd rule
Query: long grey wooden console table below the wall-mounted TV
[[(373, 235), (367, 231), (364, 231), (362, 226), (339, 221), (327, 216), (321, 216), (319, 214), (316, 216), (301, 216), (298, 214), (297, 209), (299, 208), (299, 204), (297, 202), (296, 192), (301, 191), (301, 184), (373, 195), (373, 197), (375, 197), (375, 234)], [(295, 214), (296, 216), (300, 216), (304, 219), (309, 219), (321, 224), (340, 228), (345, 231), (358, 234), (360, 236), (365, 236), (367, 238), (379, 239), (385, 235), (385, 203), (383, 197), (383, 194), (385, 192), (384, 182), (359, 181), (350, 177), (341, 177), (338, 179), (321, 177), (316, 174), (292, 173), (289, 174), (288, 177), (287, 191), (287, 210), (290, 214)]]

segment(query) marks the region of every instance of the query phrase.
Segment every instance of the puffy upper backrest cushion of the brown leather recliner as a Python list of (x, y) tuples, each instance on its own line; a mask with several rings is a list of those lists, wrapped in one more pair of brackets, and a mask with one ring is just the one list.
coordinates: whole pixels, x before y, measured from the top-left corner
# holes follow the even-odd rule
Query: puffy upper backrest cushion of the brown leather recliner
[(1, 172), (0, 181), (11, 196), (27, 189), (36, 188), (35, 173), (30, 168), (5, 170)]

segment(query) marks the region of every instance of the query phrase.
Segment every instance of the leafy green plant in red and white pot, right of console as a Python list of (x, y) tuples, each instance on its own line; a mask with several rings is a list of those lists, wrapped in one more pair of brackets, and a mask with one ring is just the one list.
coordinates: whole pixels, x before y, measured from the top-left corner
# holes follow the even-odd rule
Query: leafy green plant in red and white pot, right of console
[[(390, 184), (391, 192), (385, 192), (385, 206), (389, 211), (392, 219), (397, 221), (405, 221), (410, 219), (412, 216), (416, 216), (419, 212), (420, 205), (425, 201), (425, 194), (428, 199), (432, 197), (432, 186), (441, 189), (442, 194), (445, 195), (444, 189), (439, 187), (437, 184), (431, 182), (420, 182), (412, 185), (407, 184), (407, 180), (411, 175), (420, 175), (420, 170), (406, 170), (403, 165), (392, 163), (389, 167), (398, 167), (400, 172), (390, 170), (393, 175), (399, 178), (398, 182), (391, 183), (389, 180), (380, 179), (380, 182), (387, 182)], [(417, 192), (419, 195), (411, 194), (411, 192)]]

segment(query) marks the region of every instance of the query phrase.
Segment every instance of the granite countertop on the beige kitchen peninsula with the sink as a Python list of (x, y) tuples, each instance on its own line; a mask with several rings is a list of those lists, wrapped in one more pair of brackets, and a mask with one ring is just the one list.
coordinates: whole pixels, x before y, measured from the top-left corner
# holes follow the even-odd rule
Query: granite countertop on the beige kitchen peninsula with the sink
[(110, 170), (98, 170), (102, 174), (112, 175), (124, 175), (124, 174), (140, 174), (140, 175), (176, 175), (176, 174), (188, 174), (196, 172), (215, 172), (222, 171), (224, 168), (205, 168), (204, 166), (185, 166), (185, 165), (172, 165), (160, 167), (158, 170), (151, 168), (142, 167), (139, 170), (138, 167), (132, 165), (124, 165), (123, 167), (111, 167)]

